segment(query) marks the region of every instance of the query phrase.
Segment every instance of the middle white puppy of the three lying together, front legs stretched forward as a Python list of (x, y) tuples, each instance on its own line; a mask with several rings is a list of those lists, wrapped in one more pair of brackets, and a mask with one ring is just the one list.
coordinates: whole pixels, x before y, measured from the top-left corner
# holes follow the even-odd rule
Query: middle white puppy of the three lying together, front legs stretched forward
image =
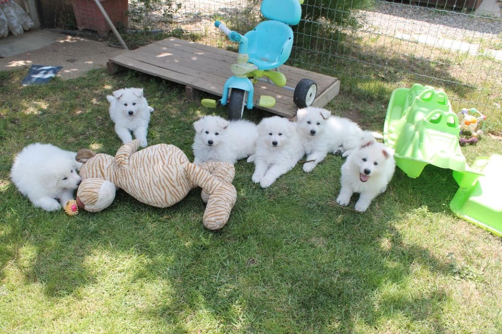
[(296, 123), (286, 118), (273, 116), (258, 124), (260, 137), (256, 153), (247, 162), (255, 162), (253, 182), (262, 188), (272, 185), (277, 178), (289, 172), (304, 154)]

